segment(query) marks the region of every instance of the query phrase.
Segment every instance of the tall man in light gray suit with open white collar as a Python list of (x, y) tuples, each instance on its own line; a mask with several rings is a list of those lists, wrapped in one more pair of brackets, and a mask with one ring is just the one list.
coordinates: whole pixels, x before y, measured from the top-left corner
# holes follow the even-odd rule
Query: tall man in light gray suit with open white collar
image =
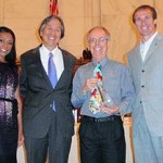
[(163, 36), (156, 32), (156, 12), (150, 5), (133, 14), (140, 43), (128, 54), (136, 100), (133, 136), (136, 163), (163, 162)]

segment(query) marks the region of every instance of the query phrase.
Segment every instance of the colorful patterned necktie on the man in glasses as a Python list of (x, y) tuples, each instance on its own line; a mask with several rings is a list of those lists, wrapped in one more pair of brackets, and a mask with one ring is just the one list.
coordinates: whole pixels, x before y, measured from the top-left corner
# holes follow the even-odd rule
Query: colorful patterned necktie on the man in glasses
[(93, 77), (98, 79), (98, 87), (91, 90), (89, 109), (93, 114), (96, 114), (100, 112), (99, 105), (100, 102), (102, 101), (102, 97), (99, 91), (99, 87), (102, 86), (102, 72), (101, 72), (101, 65), (99, 63), (97, 64), (93, 71)]

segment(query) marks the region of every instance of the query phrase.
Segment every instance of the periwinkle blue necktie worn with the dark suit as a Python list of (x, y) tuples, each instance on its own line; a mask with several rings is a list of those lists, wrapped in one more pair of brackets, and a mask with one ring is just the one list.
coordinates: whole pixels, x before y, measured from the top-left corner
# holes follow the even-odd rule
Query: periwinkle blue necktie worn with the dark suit
[[(53, 54), (51, 52), (49, 53), (49, 61), (48, 61), (48, 76), (49, 76), (52, 87), (54, 88), (58, 83), (58, 77), (57, 77), (55, 64), (53, 62)], [(52, 109), (55, 111), (54, 101), (53, 101)]]

